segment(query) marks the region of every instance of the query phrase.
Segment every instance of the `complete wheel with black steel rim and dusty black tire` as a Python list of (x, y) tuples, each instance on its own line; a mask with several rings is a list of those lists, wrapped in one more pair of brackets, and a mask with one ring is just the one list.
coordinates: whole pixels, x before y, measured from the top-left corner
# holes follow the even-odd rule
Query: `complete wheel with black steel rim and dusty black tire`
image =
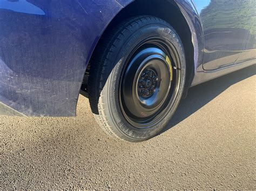
[(185, 55), (172, 27), (130, 18), (105, 34), (91, 60), (89, 100), (111, 136), (140, 142), (169, 125), (185, 82)]

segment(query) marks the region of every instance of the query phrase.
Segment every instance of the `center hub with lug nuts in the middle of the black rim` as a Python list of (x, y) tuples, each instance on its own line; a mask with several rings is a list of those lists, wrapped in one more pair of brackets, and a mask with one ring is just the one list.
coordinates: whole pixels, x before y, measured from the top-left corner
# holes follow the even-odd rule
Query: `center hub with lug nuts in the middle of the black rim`
[(157, 74), (152, 69), (145, 69), (138, 81), (138, 94), (144, 98), (152, 96), (156, 92)]

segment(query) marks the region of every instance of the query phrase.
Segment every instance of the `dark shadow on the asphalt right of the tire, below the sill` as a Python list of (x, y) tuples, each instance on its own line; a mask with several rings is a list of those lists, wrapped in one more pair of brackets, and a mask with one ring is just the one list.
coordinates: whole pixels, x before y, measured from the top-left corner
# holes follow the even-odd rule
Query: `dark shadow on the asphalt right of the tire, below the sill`
[(255, 74), (256, 65), (253, 65), (190, 88), (187, 97), (180, 101), (179, 107), (173, 115), (169, 127), (165, 128), (161, 133), (171, 129), (173, 126), (192, 115), (228, 87)]

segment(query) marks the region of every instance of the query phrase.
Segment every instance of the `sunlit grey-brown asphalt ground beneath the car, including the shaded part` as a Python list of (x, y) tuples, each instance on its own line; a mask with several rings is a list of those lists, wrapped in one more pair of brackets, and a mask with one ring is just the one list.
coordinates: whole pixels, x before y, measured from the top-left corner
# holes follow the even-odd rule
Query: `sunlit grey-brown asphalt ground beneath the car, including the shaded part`
[(0, 117), (0, 189), (256, 189), (255, 66), (188, 92), (161, 135), (107, 137), (80, 96), (77, 117)]

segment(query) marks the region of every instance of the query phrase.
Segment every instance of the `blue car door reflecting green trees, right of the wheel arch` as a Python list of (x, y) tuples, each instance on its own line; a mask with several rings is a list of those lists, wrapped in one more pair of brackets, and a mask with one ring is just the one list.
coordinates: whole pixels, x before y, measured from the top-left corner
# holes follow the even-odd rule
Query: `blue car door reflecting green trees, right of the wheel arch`
[(192, 0), (204, 30), (205, 70), (233, 65), (244, 50), (255, 0)]

